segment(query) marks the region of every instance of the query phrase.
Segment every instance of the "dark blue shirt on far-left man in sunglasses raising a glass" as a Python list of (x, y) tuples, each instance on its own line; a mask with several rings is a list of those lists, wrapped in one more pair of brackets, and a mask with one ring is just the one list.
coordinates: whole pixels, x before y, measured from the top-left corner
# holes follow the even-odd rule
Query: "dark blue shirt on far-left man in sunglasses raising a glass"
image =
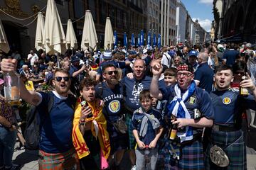
[(70, 98), (61, 99), (51, 94), (54, 98), (53, 108), (49, 115), (46, 115), (50, 98), (46, 93), (40, 92), (40, 94), (43, 98), (37, 109), (43, 125), (39, 147), (47, 153), (67, 152), (73, 147), (71, 136), (74, 118), (73, 101)]

